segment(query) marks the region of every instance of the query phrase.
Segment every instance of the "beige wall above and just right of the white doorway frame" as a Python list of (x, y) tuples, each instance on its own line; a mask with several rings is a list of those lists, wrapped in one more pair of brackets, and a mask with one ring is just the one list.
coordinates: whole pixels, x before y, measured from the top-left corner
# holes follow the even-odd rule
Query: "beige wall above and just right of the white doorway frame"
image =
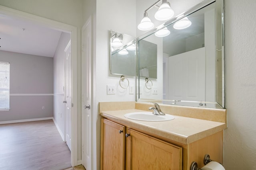
[[(0, 5), (77, 27), (77, 63), (81, 63), (81, 27), (84, 0), (0, 0)], [(77, 65), (77, 116), (81, 119), (81, 65)], [(81, 160), (81, 121), (78, 129), (78, 160)]]

